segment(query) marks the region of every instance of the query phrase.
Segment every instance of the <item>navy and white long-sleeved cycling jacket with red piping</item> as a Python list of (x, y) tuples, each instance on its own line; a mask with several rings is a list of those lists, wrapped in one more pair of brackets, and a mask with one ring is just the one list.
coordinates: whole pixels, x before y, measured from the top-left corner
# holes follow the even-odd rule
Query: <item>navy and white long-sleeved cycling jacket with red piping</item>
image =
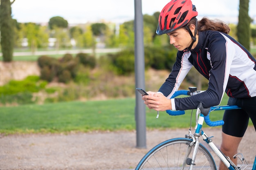
[(173, 70), (159, 92), (171, 98), (194, 66), (209, 80), (209, 87), (198, 95), (171, 99), (173, 110), (194, 109), (200, 102), (204, 107), (216, 106), (224, 92), (235, 98), (255, 97), (255, 64), (256, 59), (249, 51), (229, 35), (218, 31), (199, 32), (195, 49), (177, 52)]

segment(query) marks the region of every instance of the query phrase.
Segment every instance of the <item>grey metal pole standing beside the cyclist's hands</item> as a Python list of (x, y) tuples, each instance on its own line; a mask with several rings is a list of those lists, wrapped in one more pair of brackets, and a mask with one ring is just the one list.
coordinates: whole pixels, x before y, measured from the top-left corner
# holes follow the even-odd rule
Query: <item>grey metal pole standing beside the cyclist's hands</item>
[[(141, 0), (135, 0), (135, 86), (145, 88), (143, 15)], [(146, 148), (146, 108), (141, 95), (136, 93), (135, 121), (137, 148)]]

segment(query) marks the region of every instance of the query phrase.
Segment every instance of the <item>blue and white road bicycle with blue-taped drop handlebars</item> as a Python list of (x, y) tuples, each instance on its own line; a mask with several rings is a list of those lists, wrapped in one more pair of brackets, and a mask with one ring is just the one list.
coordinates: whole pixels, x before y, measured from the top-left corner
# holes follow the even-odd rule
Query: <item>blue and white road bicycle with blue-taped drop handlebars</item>
[[(196, 95), (203, 91), (197, 91), (195, 87), (187, 90), (180, 90), (175, 92), (172, 98), (179, 95)], [(241, 166), (236, 166), (229, 157), (226, 157), (213, 144), (211, 137), (208, 137), (202, 130), (202, 124), (205, 122), (208, 126), (220, 126), (224, 124), (223, 120), (211, 121), (209, 114), (214, 110), (231, 110), (240, 109), (238, 106), (213, 106), (211, 108), (203, 108), (202, 103), (198, 105), (196, 110), (196, 126), (195, 133), (191, 132), (191, 124), (188, 135), (184, 138), (174, 138), (163, 141), (162, 143), (153, 147), (148, 153), (139, 161), (135, 170), (217, 170), (217, 166), (211, 152), (199, 141), (202, 137), (211, 151), (225, 164), (229, 170), (244, 170), (248, 163), (242, 154), (234, 155), (241, 161)], [(169, 115), (183, 115), (184, 110), (166, 110)], [(191, 113), (192, 121), (192, 113)], [(252, 165), (252, 170), (256, 170), (256, 156)]]

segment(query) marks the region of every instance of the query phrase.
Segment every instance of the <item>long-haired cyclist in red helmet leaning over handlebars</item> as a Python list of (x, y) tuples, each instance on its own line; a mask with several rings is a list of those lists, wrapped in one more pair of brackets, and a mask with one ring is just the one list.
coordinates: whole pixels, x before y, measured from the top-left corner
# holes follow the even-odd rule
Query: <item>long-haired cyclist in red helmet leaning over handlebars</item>
[[(236, 163), (233, 156), (249, 118), (256, 129), (256, 60), (228, 35), (227, 24), (208, 18), (197, 21), (197, 15), (191, 0), (172, 0), (162, 9), (156, 33), (167, 34), (170, 44), (177, 48), (176, 62), (159, 91), (148, 91), (149, 95), (142, 99), (148, 108), (158, 111), (187, 110), (197, 108), (200, 102), (204, 107), (216, 106), (226, 92), (228, 105), (242, 109), (225, 110), (220, 150)], [(191, 97), (170, 99), (192, 66), (209, 80), (207, 90)]]

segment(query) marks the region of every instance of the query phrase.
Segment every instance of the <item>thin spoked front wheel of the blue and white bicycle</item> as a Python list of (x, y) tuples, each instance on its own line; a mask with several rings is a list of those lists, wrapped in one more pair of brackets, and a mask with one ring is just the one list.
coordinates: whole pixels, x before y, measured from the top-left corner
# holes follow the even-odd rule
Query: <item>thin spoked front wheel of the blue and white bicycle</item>
[[(184, 163), (186, 161), (186, 151), (192, 139), (175, 138), (164, 141), (154, 148), (152, 148), (139, 161), (135, 170), (189, 170), (189, 165)], [(194, 145), (188, 157), (191, 158), (193, 154)], [(198, 154), (195, 159), (195, 166), (193, 170), (216, 170), (216, 163), (211, 153), (202, 144), (198, 147)]]

